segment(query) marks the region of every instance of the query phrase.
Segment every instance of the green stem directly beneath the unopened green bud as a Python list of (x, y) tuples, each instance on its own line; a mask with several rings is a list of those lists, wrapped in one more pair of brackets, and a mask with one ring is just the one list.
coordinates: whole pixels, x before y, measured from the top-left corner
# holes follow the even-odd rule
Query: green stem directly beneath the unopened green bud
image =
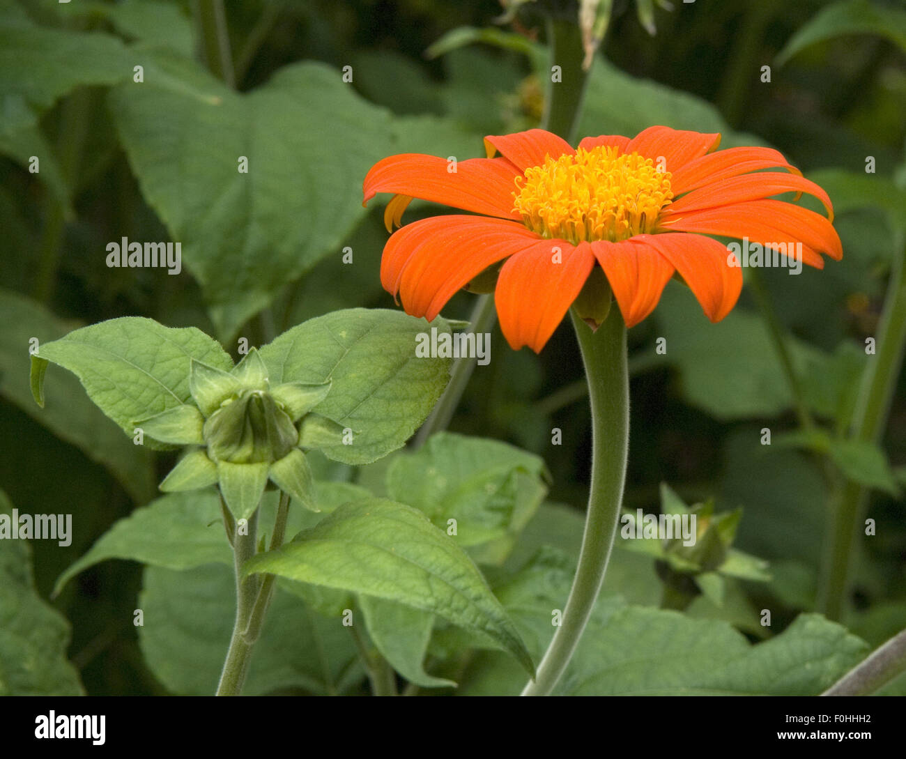
[(258, 510), (248, 518), (247, 534), (236, 531), (233, 540), (233, 564), (236, 569), (236, 624), (233, 626), (233, 637), (226, 651), (224, 669), (217, 686), (217, 696), (238, 696), (246, 681), (248, 665), (252, 660), (254, 641), (246, 639), (246, 628), (255, 608), (255, 600), (261, 581), (253, 575), (242, 577), (242, 565), (255, 555), (258, 532)]

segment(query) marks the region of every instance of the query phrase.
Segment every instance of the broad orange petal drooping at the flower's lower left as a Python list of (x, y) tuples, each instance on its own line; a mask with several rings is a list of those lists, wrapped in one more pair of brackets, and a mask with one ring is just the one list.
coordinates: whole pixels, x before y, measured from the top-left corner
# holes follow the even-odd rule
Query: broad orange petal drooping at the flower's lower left
[(538, 241), (529, 229), (481, 216), (432, 216), (402, 227), (384, 247), (381, 284), (407, 313), (429, 321), (491, 264)]

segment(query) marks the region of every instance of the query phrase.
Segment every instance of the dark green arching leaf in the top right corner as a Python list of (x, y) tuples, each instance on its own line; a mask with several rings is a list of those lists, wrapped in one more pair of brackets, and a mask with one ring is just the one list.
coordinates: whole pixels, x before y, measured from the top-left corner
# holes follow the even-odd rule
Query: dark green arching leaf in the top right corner
[(790, 38), (777, 54), (777, 65), (782, 66), (809, 45), (842, 34), (877, 34), (887, 37), (906, 52), (906, 11), (869, 0), (843, 0), (827, 5)]

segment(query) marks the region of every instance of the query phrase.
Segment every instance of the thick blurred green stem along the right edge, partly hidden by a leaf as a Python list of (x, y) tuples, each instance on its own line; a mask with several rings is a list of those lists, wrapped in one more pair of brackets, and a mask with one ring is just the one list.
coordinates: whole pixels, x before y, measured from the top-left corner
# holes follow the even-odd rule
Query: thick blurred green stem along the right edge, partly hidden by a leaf
[[(906, 348), (906, 235), (896, 235), (893, 271), (878, 336), (877, 353), (868, 357), (859, 398), (853, 414), (852, 437), (868, 443), (880, 443), (887, 428), (893, 394)], [(868, 488), (847, 482), (836, 499), (834, 524), (824, 554), (824, 566), (818, 587), (818, 608), (831, 620), (843, 615), (849, 596), (853, 552), (862, 534)]]

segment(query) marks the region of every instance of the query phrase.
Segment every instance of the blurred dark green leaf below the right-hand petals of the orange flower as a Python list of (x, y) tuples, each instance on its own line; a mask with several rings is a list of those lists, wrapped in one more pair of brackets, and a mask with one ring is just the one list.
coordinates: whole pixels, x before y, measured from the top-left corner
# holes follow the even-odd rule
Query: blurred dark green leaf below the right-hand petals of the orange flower
[[(711, 324), (688, 288), (670, 283), (655, 311), (663, 356), (679, 369), (683, 396), (719, 420), (776, 416), (792, 404), (789, 383), (765, 323), (737, 307)], [(788, 341), (796, 369), (818, 351)]]

